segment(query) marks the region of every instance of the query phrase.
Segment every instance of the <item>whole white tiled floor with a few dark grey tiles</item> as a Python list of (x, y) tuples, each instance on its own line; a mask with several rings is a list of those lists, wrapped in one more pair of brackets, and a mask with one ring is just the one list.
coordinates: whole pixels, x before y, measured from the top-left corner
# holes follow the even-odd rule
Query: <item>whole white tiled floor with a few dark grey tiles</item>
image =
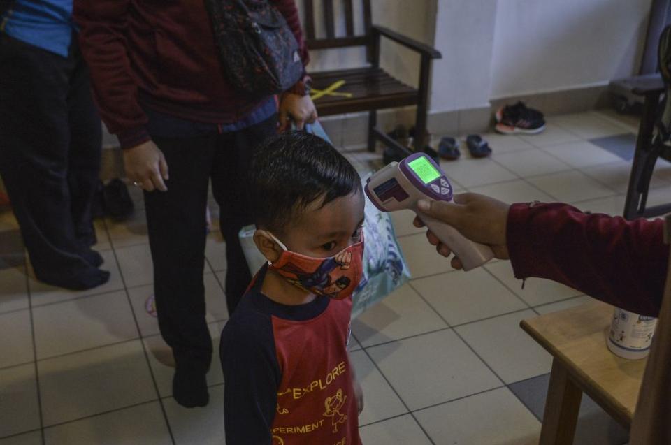
[[(550, 117), (537, 136), (485, 135), (491, 159), (465, 154), (443, 167), (457, 191), (617, 214), (630, 128), (600, 112)], [(348, 156), (360, 168), (378, 157)], [(657, 169), (652, 203), (671, 197), (671, 165)], [(85, 292), (36, 282), (15, 220), (0, 213), (0, 445), (223, 443), (216, 365), (208, 407), (182, 409), (171, 397), (171, 353), (144, 309), (152, 265), (136, 199), (133, 219), (96, 223), (112, 278)], [(393, 218), (413, 279), (352, 326), (352, 360), (366, 395), (364, 444), (535, 444), (550, 358), (519, 321), (589, 297), (540, 279), (521, 289), (505, 261), (455, 272), (412, 226), (412, 214)], [(204, 280), (215, 339), (228, 318), (224, 251), (212, 233)], [(576, 444), (623, 442), (626, 432), (586, 399)]]

